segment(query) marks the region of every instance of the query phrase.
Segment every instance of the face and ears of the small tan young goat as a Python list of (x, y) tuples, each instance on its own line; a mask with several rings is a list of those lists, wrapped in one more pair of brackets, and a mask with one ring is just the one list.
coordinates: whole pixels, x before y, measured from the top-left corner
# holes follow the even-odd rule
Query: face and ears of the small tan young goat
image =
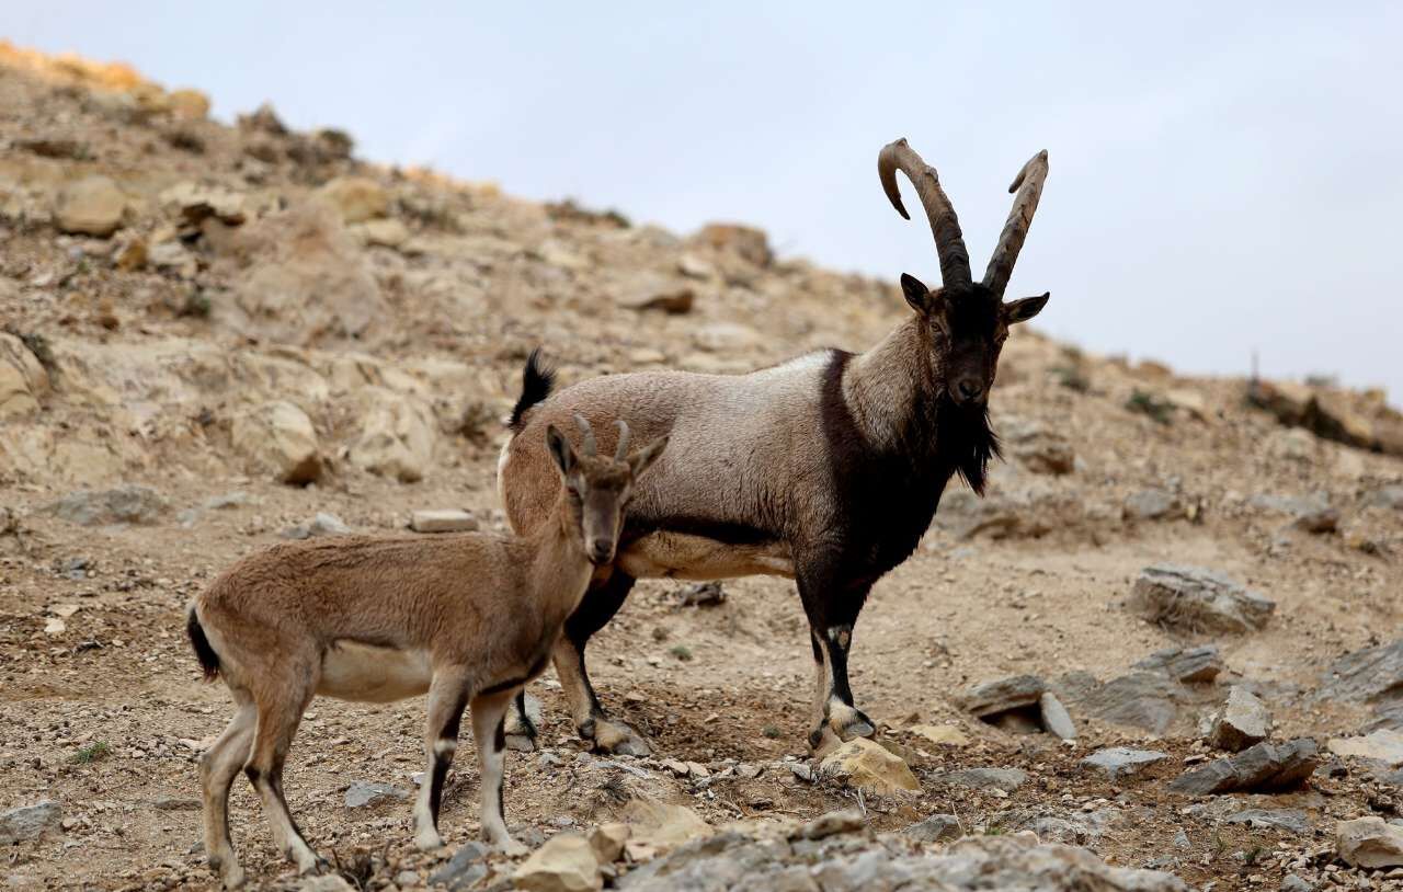
[[(633, 454), (610, 459), (595, 454), (593, 433), (586, 436), (582, 452), (577, 453), (554, 425), (547, 425), (546, 445), (560, 468), (585, 555), (598, 567), (612, 564), (634, 480), (662, 454), (668, 438), (659, 438)], [(627, 449), (626, 436), (620, 446), (619, 453), (623, 453)]]

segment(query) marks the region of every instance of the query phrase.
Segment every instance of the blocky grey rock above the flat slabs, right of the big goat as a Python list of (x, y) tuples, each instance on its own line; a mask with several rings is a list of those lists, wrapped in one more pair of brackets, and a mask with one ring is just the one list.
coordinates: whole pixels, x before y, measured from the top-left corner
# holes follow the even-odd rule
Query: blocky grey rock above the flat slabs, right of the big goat
[(1256, 631), (1277, 609), (1223, 574), (1174, 564), (1142, 569), (1127, 606), (1150, 623), (1187, 633)]

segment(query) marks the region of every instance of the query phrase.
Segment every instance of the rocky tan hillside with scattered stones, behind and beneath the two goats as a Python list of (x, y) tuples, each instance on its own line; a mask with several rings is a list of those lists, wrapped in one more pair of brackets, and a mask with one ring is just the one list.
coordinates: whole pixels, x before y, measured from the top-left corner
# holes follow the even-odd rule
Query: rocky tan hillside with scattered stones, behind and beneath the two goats
[[(861, 349), (905, 311), (894, 283), (746, 226), (679, 236), (369, 164), (268, 107), (208, 111), (0, 45), (15, 888), (212, 886), (194, 759), (229, 705), (198, 683), (182, 604), (279, 537), (427, 509), (501, 527), (499, 418), (533, 346), (567, 381), (741, 372)], [(951, 489), (863, 614), (878, 743), (804, 750), (790, 583), (643, 585), (591, 655), (657, 753), (581, 752), (558, 684), (536, 684), (546, 748), (509, 766), (508, 819), (542, 846), (523, 864), (408, 846), (418, 703), (314, 704), (289, 799), (337, 882), (1400, 886), (1403, 418), (1379, 393), (1188, 379), (1035, 331), (992, 403), (989, 496)], [(474, 802), (469, 767), (450, 840)], [(233, 809), (246, 867), (293, 886), (254, 798)]]

